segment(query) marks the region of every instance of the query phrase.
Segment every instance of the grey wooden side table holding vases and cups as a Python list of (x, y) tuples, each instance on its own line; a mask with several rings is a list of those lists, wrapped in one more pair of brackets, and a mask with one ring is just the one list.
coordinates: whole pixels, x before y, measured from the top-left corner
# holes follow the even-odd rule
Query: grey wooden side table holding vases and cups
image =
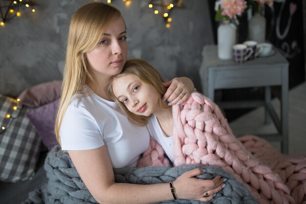
[[(204, 46), (203, 62), (199, 69), (202, 91), (214, 101), (215, 90), (264, 87), (262, 101), (223, 102), (222, 108), (241, 109), (264, 105), (265, 118), (269, 118), (278, 130), (277, 134), (258, 135), (269, 141), (280, 141), (282, 152), (288, 153), (288, 66), (289, 63), (277, 49), (270, 57), (260, 57), (236, 64), (231, 60), (220, 60), (217, 45)], [(278, 117), (271, 104), (271, 86), (281, 86), (281, 117)]]

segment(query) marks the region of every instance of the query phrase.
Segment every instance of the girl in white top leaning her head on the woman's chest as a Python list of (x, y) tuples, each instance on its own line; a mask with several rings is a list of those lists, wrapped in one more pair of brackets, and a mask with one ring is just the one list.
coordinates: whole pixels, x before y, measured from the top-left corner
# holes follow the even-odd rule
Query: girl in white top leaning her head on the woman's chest
[(150, 135), (174, 162), (172, 106), (162, 100), (166, 91), (162, 82), (162, 77), (150, 64), (131, 59), (120, 74), (110, 78), (108, 92), (132, 121), (147, 125)]

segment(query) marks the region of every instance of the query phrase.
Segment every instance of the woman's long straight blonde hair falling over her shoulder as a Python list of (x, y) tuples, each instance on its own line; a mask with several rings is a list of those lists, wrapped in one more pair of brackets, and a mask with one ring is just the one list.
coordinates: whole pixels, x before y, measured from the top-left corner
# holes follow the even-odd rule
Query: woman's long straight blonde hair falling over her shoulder
[(115, 7), (95, 2), (82, 6), (71, 18), (61, 100), (55, 123), (55, 135), (60, 144), (60, 127), (71, 97), (79, 93), (85, 83), (95, 84), (86, 52), (99, 44), (109, 24), (120, 17), (121, 13)]

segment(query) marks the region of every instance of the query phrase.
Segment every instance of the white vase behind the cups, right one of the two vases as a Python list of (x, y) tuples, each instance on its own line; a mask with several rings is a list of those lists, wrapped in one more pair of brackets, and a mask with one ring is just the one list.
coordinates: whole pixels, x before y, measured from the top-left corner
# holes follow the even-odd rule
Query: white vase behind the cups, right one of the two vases
[(248, 38), (250, 41), (265, 42), (265, 24), (265, 18), (260, 13), (255, 13), (248, 22)]

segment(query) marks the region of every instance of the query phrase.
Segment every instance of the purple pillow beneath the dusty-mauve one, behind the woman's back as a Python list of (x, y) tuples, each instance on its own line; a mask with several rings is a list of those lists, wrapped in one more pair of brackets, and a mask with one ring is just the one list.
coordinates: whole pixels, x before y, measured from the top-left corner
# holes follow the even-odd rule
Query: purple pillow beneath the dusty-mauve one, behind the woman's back
[(54, 134), (54, 126), (59, 101), (60, 99), (57, 99), (44, 106), (28, 110), (26, 113), (48, 150), (58, 144)]

